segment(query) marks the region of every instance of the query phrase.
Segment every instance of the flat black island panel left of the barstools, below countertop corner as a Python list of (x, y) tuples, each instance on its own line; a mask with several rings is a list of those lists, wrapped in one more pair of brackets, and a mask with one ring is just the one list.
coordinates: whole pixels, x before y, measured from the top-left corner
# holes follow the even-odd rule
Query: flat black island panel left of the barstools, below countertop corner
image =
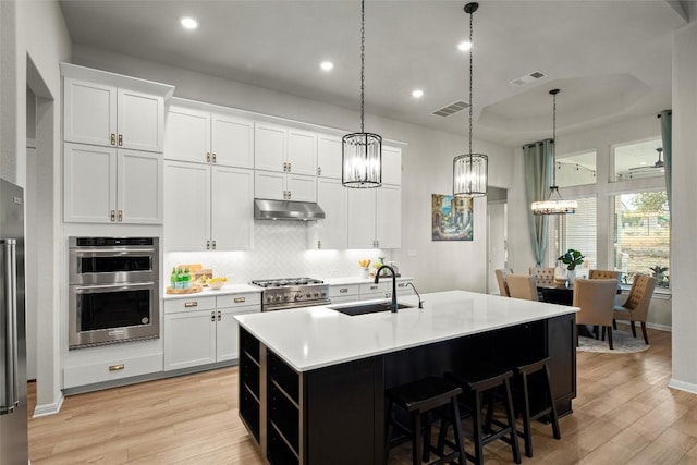
[(306, 465), (383, 463), (382, 357), (304, 374)]

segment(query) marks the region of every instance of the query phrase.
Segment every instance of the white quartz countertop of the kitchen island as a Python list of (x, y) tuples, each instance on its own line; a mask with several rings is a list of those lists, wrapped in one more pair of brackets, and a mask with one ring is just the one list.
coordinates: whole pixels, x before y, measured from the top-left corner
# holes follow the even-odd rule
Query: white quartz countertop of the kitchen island
[[(396, 314), (347, 316), (327, 306), (235, 316), (240, 325), (296, 371), (447, 341), (576, 313), (577, 307), (466, 291), (400, 297)], [(350, 306), (343, 304), (337, 306)], [(331, 307), (332, 305), (329, 305)]]

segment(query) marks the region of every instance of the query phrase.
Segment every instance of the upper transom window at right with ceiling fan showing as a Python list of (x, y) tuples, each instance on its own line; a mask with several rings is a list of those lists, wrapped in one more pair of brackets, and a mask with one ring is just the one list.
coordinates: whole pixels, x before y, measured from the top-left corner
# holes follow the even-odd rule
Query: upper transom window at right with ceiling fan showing
[(632, 143), (614, 148), (614, 181), (663, 176), (660, 138)]

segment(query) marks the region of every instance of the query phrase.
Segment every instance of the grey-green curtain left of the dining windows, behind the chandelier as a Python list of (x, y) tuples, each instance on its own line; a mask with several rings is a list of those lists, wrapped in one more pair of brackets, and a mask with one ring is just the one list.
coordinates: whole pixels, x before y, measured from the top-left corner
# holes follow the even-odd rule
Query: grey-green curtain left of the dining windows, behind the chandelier
[(547, 200), (552, 182), (552, 140), (545, 139), (523, 146), (525, 163), (525, 198), (529, 220), (530, 243), (537, 266), (541, 267), (547, 255), (547, 215), (533, 215), (534, 201)]

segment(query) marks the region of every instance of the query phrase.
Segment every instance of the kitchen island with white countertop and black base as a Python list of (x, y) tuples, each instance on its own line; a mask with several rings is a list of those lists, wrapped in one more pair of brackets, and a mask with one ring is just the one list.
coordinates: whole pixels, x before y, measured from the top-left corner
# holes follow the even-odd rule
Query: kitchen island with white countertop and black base
[(576, 391), (576, 307), (450, 291), (399, 313), (330, 306), (236, 317), (240, 416), (272, 464), (381, 464), (383, 393), (472, 362), (550, 356), (560, 414)]

